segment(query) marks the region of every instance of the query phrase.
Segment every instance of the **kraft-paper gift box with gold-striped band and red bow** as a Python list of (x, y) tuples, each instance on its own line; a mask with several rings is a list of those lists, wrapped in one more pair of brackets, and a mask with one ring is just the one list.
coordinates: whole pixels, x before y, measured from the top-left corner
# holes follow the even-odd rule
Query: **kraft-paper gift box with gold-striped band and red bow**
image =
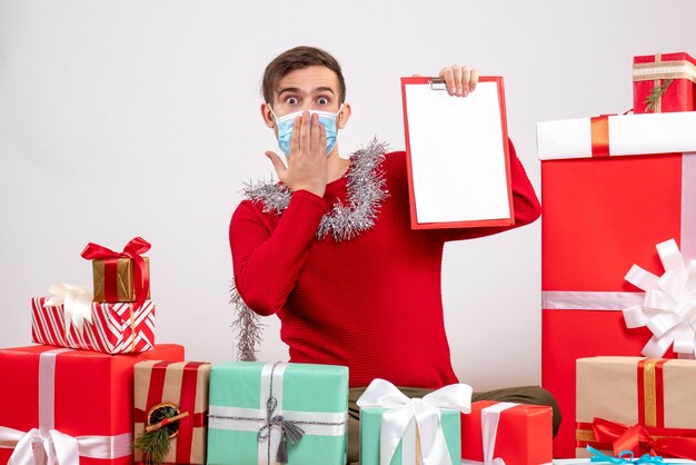
[(696, 360), (577, 360), (577, 456), (630, 451), (696, 459)]

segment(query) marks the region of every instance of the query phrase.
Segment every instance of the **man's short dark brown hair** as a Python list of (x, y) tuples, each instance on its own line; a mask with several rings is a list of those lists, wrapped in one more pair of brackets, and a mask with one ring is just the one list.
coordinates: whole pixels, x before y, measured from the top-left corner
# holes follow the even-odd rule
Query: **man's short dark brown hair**
[(340, 70), (340, 65), (329, 52), (316, 47), (295, 47), (286, 50), (266, 67), (264, 72), (262, 92), (267, 103), (274, 103), (278, 83), (291, 71), (312, 66), (322, 66), (336, 73), (338, 78), (338, 102), (346, 100), (346, 81)]

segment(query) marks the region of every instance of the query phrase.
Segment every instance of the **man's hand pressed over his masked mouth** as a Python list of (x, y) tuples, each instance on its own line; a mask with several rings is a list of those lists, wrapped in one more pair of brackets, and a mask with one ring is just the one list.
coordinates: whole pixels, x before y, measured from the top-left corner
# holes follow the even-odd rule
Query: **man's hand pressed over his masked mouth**
[(326, 129), (317, 115), (310, 116), (305, 110), (295, 119), (287, 168), (277, 154), (269, 150), (266, 156), (274, 164), (280, 181), (292, 191), (307, 190), (324, 196), (328, 180)]

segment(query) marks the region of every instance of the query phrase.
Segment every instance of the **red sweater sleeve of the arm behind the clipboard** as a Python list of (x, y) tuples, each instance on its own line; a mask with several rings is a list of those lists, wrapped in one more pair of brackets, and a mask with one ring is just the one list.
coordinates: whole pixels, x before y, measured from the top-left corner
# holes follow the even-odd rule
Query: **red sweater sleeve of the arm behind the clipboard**
[(513, 209), (515, 212), (515, 224), (510, 226), (490, 226), (479, 228), (445, 229), (445, 240), (473, 239), (476, 237), (490, 236), (518, 228), (534, 222), (541, 215), (541, 206), (534, 191), (534, 187), (527, 177), (525, 167), (517, 158), (515, 146), (508, 139), (510, 155), (510, 180), (513, 185)]

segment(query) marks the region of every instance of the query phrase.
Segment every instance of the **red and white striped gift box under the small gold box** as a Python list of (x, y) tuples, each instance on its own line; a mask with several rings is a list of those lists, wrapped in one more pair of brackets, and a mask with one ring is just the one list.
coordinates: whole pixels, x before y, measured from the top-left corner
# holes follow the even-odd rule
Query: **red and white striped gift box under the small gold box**
[(91, 323), (69, 325), (62, 305), (46, 305), (47, 297), (31, 299), (31, 338), (39, 344), (97, 350), (106, 354), (140, 353), (155, 345), (155, 304), (92, 303)]

